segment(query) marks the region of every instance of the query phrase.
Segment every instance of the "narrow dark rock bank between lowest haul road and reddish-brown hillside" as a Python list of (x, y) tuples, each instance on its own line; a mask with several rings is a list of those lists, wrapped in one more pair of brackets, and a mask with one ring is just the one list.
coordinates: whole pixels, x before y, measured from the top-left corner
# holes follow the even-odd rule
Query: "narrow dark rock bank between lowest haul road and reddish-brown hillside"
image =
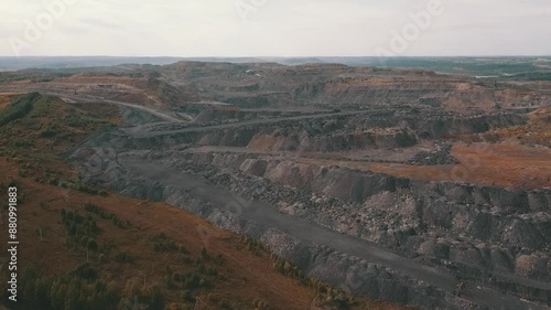
[[(78, 154), (73, 160), (76, 158)], [(321, 244), (303, 243), (280, 231), (258, 226), (255, 222), (190, 195), (186, 190), (163, 186), (159, 182), (133, 174), (119, 165), (115, 158), (112, 161), (104, 161), (102, 169), (104, 173), (90, 179), (90, 183), (137, 199), (163, 201), (207, 218), (220, 228), (248, 234), (262, 240), (273, 253), (299, 266), (310, 276), (355, 293), (377, 300), (412, 304), (421, 309), (489, 309), (393, 269), (335, 252)]]

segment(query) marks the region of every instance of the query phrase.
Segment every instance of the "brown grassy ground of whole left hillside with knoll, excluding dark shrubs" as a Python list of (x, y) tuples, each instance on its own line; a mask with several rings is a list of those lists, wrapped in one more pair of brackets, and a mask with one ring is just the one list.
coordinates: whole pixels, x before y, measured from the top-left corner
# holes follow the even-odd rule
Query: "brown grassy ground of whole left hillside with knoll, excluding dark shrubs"
[[(181, 289), (166, 288), (165, 266), (171, 266), (177, 272), (193, 271), (196, 266), (184, 264), (177, 252), (154, 250), (155, 236), (164, 232), (177, 245), (185, 246), (191, 257), (199, 257), (203, 247), (206, 247), (210, 257), (222, 256), (223, 263), (205, 263), (219, 272), (212, 279), (214, 287), (194, 292), (204, 300), (203, 309), (219, 309), (223, 298), (234, 309), (253, 309), (255, 299), (263, 300), (274, 309), (316, 309), (311, 308), (315, 289), (276, 271), (270, 255), (247, 250), (241, 236), (217, 229), (206, 221), (166, 204), (117, 194), (90, 195), (51, 184), (55, 184), (53, 181), (58, 179), (76, 180), (75, 171), (56, 153), (82, 141), (100, 127), (117, 121), (117, 109), (109, 106), (72, 106), (57, 98), (42, 97), (29, 115), (0, 128), (0, 151), (3, 153), (0, 156), (0, 184), (6, 186), (10, 180), (14, 180), (19, 188), (20, 267), (34, 264), (44, 276), (50, 276), (67, 272), (88, 260), (99, 269), (100, 278), (106, 282), (114, 281), (121, 289), (132, 282), (159, 285), (166, 303), (174, 302), (173, 309), (193, 309), (193, 302), (182, 301)], [(54, 129), (51, 130), (53, 133), (41, 135), (48, 128)], [(0, 200), (7, 201), (4, 189)], [(115, 213), (129, 225), (120, 228), (111, 221), (87, 213), (84, 210), (86, 203)], [(87, 255), (83, 248), (67, 246), (69, 243), (61, 210), (78, 211), (96, 218), (101, 229), (96, 239), (114, 245), (107, 263), (101, 263), (99, 253)], [(6, 210), (2, 210), (2, 218), (7, 218)], [(0, 227), (6, 232), (6, 221)], [(6, 245), (6, 233), (0, 234), (0, 243)], [(117, 261), (117, 253), (128, 253), (134, 263)], [(3, 269), (0, 272), (6, 271)], [(355, 309), (406, 308), (359, 300)]]

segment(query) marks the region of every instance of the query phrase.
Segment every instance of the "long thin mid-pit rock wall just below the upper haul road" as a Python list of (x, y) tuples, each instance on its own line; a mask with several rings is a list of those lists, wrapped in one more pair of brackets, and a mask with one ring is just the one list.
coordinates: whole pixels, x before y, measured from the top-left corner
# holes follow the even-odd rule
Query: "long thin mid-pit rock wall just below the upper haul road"
[(408, 115), (365, 115), (323, 118), (268, 126), (244, 126), (173, 132), (134, 141), (137, 148), (156, 148), (190, 143), (195, 146), (251, 147), (264, 150), (344, 151), (366, 148), (393, 149), (414, 146), (419, 139), (439, 139), (446, 135), (486, 132), (496, 126), (516, 126), (526, 115), (497, 114), (469, 118), (439, 116), (420, 118)]

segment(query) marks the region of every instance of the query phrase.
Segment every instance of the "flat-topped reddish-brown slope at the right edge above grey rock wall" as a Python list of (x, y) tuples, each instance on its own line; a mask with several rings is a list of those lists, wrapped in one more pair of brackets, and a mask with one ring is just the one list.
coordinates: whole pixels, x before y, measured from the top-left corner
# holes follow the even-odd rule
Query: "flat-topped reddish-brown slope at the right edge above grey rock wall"
[(551, 188), (550, 108), (531, 113), (528, 124), (522, 126), (494, 128), (482, 135), (449, 139), (457, 143), (452, 154), (460, 160), (460, 164), (372, 164), (370, 169), (430, 181), (460, 181), (528, 190)]

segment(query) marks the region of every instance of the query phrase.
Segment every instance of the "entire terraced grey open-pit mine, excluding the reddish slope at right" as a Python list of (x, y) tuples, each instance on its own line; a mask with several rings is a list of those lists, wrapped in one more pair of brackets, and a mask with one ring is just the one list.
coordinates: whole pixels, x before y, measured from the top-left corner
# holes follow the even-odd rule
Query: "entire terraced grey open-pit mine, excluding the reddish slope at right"
[[(160, 70), (194, 98), (234, 106), (175, 104), (187, 90), (154, 85), (194, 121), (125, 114), (127, 127), (71, 152), (88, 183), (184, 207), (375, 299), (422, 309), (551, 307), (551, 190), (428, 182), (364, 165), (454, 164), (450, 136), (523, 125), (532, 106), (551, 105), (544, 92), (341, 65)], [(456, 291), (461, 282), (466, 289)]]

